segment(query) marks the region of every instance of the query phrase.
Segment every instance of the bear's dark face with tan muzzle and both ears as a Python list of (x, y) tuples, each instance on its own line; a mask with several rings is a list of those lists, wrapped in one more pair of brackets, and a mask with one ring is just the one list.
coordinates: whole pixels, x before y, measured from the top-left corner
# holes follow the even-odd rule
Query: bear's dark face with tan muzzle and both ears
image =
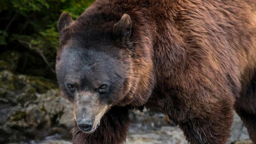
[(61, 91), (73, 102), (79, 129), (93, 133), (111, 106), (129, 103), (126, 95), (133, 72), (123, 42), (130, 36), (131, 21), (124, 15), (113, 25), (112, 34), (92, 30), (70, 33), (73, 23), (67, 13), (59, 19), (56, 74)]

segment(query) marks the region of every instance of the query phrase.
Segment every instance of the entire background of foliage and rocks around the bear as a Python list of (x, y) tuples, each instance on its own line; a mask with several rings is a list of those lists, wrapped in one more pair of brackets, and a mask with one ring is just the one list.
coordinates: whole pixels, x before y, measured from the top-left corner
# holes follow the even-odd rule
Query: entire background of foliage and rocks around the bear
[[(1, 0), (0, 143), (70, 143), (72, 105), (55, 77), (57, 23), (76, 19), (92, 0)], [(130, 111), (127, 143), (187, 143), (167, 116)], [(229, 143), (250, 143), (235, 114)]]

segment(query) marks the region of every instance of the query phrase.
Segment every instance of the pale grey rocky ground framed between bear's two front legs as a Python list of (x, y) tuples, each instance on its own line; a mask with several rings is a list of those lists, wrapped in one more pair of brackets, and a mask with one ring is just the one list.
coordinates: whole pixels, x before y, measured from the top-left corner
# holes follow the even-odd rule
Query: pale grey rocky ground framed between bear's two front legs
[(127, 144), (166, 143), (185, 144), (185, 136), (178, 126), (169, 120), (168, 116), (148, 111), (130, 111), (131, 124), (127, 135)]

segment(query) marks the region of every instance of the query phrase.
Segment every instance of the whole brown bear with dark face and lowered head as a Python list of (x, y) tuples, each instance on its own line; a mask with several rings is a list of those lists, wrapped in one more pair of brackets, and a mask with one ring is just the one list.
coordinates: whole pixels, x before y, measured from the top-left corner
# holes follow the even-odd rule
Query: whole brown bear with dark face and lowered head
[(141, 107), (214, 144), (227, 142), (235, 109), (256, 143), (255, 0), (96, 0), (58, 28), (73, 143), (123, 143), (128, 110)]

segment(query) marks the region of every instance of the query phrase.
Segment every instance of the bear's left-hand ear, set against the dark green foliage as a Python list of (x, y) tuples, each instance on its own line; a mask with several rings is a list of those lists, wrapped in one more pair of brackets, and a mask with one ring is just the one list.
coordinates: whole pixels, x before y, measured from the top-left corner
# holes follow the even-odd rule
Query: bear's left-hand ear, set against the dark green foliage
[(69, 26), (73, 22), (71, 16), (67, 12), (63, 12), (60, 15), (59, 21), (58, 21), (58, 30), (61, 32), (61, 30), (67, 26)]

